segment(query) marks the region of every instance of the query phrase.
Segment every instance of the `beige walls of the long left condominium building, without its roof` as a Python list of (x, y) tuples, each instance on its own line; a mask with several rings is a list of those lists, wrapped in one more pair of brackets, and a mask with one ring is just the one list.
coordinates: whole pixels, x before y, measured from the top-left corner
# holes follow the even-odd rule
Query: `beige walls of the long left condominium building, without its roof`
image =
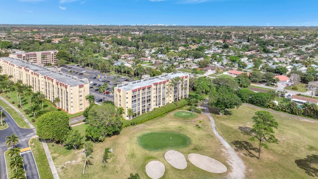
[(0, 66), (2, 66), (2, 74), (13, 76), (11, 80), (14, 83), (22, 80), (23, 84), (32, 86), (33, 92), (42, 92), (51, 102), (54, 102), (55, 97), (59, 97), (58, 107), (68, 113), (78, 113), (89, 106), (88, 100), (85, 99), (85, 96), (89, 94), (89, 84), (71, 87), (56, 79), (1, 59)]

